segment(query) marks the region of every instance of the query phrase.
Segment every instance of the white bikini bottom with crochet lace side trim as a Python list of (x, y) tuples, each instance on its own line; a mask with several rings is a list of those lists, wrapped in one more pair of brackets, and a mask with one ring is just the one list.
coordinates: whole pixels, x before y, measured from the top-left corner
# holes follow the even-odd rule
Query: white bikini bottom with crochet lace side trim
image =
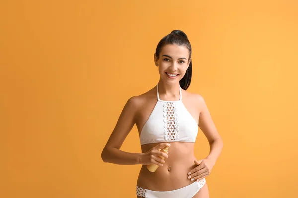
[(144, 198), (192, 198), (206, 183), (205, 178), (172, 191), (151, 191), (137, 186), (137, 196)]

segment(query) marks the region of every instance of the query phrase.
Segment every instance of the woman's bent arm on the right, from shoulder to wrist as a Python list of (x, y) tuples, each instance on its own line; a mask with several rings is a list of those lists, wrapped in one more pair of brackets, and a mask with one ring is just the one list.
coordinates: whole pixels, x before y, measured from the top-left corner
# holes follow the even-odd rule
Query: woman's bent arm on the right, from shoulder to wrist
[(201, 104), (200, 106), (202, 107), (199, 116), (199, 127), (206, 136), (210, 145), (210, 152), (206, 159), (210, 159), (210, 161), (213, 163), (212, 165), (214, 165), (216, 160), (220, 156), (224, 144), (213, 123), (205, 100), (200, 95), (199, 102)]

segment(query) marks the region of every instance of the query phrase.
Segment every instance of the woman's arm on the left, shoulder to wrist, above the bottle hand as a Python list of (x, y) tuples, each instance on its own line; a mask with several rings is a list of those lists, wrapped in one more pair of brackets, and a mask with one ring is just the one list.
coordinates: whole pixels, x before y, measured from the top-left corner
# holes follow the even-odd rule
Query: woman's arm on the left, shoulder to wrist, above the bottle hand
[(117, 124), (101, 153), (104, 162), (122, 165), (140, 164), (142, 153), (129, 153), (120, 150), (125, 138), (135, 124), (135, 115), (138, 109), (138, 97), (128, 99)]

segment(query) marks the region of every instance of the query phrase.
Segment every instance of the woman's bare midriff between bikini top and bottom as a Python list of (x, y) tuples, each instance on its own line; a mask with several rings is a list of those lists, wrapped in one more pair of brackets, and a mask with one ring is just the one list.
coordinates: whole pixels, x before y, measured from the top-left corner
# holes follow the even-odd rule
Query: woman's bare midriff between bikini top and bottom
[[(143, 189), (153, 191), (171, 191), (185, 187), (195, 181), (188, 179), (187, 173), (196, 167), (194, 161), (194, 143), (193, 142), (169, 142), (171, 144), (168, 155), (165, 158), (163, 166), (159, 166), (152, 173), (146, 165), (142, 165), (137, 186)], [(152, 143), (142, 145), (142, 153), (147, 152), (151, 148), (160, 143)]]

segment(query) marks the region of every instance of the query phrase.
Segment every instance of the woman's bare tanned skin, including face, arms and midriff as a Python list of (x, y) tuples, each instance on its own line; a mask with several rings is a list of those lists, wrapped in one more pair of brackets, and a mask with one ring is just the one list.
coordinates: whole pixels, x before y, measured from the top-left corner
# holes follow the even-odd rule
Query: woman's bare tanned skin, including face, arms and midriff
[[(159, 58), (154, 54), (154, 62), (158, 66), (160, 74), (158, 88), (161, 100), (179, 100), (179, 80), (184, 76), (190, 61), (188, 49), (185, 46), (175, 44), (163, 46)], [(171, 79), (167, 73), (179, 75)], [(102, 152), (104, 161), (115, 164), (142, 164), (137, 186), (153, 191), (179, 189), (208, 176), (223, 147), (222, 139), (212, 121), (203, 97), (183, 89), (182, 102), (196, 120), (210, 144), (210, 153), (205, 159), (196, 159), (194, 156), (195, 143), (191, 142), (144, 144), (141, 146), (142, 153), (140, 154), (119, 151), (134, 124), (138, 128), (140, 136), (140, 132), (156, 102), (157, 86), (127, 101), (115, 129)], [(160, 152), (159, 150), (167, 144), (170, 144), (168, 154)], [(158, 156), (163, 156), (165, 159), (162, 160)], [(152, 173), (146, 168), (148, 164), (158, 164), (159, 167)], [(170, 171), (168, 171), (169, 167)], [(191, 172), (190, 176), (194, 178), (193, 181), (188, 178), (189, 172)], [(137, 196), (137, 198), (141, 197)], [(207, 183), (193, 198), (209, 198)]]

